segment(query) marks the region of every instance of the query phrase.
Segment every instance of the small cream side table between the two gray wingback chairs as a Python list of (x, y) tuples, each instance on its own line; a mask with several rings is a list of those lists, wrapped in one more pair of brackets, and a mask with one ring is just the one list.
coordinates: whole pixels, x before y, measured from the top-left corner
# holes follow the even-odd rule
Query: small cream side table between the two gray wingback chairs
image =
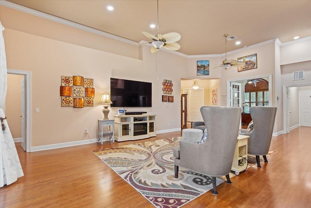
[[(233, 157), (233, 163), (231, 170), (235, 171), (236, 175), (239, 175), (241, 171), (246, 169), (247, 166), (247, 139), (249, 136), (245, 135), (238, 135), (238, 141), (236, 144), (234, 157)], [(245, 160), (246, 159), (246, 160)], [(240, 165), (239, 161), (242, 161)]]

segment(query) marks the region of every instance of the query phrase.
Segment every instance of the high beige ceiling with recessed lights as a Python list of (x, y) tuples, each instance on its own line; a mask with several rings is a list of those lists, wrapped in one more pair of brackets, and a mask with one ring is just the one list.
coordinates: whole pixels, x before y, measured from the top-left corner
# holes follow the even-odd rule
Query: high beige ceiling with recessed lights
[[(141, 31), (156, 34), (149, 27), (157, 22), (156, 0), (8, 1), (136, 42), (150, 40)], [(237, 37), (227, 42), (227, 51), (311, 36), (311, 0), (159, 0), (158, 5), (159, 33), (180, 33), (178, 52), (189, 56), (225, 53), (224, 34)]]

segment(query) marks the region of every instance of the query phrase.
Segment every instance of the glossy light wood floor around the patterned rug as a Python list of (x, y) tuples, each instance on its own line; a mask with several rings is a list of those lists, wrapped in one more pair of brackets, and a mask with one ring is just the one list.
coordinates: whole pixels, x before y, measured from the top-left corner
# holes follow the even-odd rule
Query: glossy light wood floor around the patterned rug
[[(158, 134), (149, 140), (180, 136)], [(140, 141), (148, 141), (140, 140)], [(24, 176), (0, 188), (0, 208), (154, 208), (138, 191), (91, 151), (138, 141), (98, 143), (25, 153), (17, 143)], [(217, 187), (183, 208), (311, 207), (311, 128), (299, 127), (273, 137), (269, 163), (254, 166), (232, 184)]]

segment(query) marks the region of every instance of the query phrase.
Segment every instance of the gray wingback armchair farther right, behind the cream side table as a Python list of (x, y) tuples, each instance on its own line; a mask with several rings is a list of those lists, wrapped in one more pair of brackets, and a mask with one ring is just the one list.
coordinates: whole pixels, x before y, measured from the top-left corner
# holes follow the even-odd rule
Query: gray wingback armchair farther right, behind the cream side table
[(254, 123), (253, 130), (239, 134), (249, 136), (247, 153), (256, 155), (257, 167), (260, 168), (259, 155), (263, 156), (265, 163), (268, 162), (266, 154), (270, 149), (276, 119), (276, 107), (252, 106), (249, 111)]

